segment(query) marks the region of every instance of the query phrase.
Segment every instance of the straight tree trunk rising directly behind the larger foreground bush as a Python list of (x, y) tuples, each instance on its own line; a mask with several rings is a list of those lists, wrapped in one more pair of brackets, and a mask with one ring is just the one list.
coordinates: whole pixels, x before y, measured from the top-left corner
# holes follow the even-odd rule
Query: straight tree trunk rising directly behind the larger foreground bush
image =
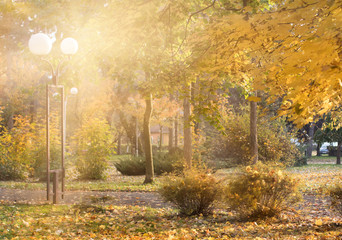
[(257, 133), (257, 103), (250, 102), (250, 132), (251, 132), (251, 160), (256, 164), (259, 158), (258, 153), (258, 133)]

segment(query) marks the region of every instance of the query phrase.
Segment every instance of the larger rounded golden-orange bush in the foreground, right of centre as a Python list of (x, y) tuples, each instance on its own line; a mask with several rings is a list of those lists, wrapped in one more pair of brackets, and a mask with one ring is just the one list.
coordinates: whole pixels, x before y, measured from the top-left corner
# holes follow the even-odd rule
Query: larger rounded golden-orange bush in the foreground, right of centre
[(298, 181), (262, 163), (243, 168), (225, 190), (228, 206), (242, 219), (279, 215), (299, 200)]

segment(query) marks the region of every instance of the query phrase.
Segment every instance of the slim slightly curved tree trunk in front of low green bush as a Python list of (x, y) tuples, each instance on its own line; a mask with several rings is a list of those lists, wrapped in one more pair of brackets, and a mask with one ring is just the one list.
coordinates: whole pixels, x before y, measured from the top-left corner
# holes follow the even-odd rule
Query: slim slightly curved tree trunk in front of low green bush
[(152, 143), (151, 143), (151, 129), (150, 129), (150, 121), (152, 115), (152, 94), (149, 94), (145, 99), (146, 109), (144, 113), (144, 147), (145, 147), (145, 161), (146, 161), (146, 175), (145, 181), (146, 183), (152, 183), (154, 177), (154, 169), (153, 169), (153, 156), (152, 156)]

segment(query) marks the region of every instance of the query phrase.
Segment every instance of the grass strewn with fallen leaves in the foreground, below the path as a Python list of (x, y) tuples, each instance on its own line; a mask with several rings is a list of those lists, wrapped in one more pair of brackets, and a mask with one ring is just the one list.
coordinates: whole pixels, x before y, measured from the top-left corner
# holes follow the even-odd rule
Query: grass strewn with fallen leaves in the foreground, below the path
[(136, 206), (0, 205), (3, 239), (338, 239), (342, 222), (294, 212), (239, 222), (230, 212), (180, 217)]

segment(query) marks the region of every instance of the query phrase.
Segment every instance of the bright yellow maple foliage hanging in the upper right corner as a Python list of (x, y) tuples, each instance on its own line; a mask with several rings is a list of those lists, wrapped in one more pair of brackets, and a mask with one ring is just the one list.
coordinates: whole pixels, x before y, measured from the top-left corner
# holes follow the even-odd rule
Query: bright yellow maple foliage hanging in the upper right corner
[[(341, 99), (340, 31), (338, 3), (291, 1), (278, 9), (246, 18), (231, 14), (215, 19), (206, 39), (211, 47), (200, 68), (224, 72), (244, 86), (292, 104), (280, 111), (298, 125), (338, 107)], [(216, 64), (219, 63), (219, 64)]]

